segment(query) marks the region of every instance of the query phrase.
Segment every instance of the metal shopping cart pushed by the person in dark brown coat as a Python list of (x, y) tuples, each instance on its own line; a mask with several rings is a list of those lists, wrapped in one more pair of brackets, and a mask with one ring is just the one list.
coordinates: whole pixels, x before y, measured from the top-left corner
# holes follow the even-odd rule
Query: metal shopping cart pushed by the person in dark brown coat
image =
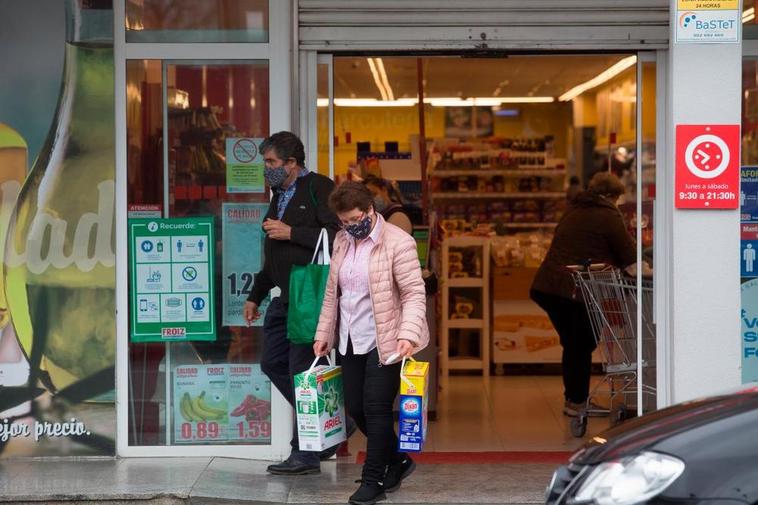
[[(609, 414), (611, 424), (627, 418), (633, 406), (636, 410), (638, 374), (642, 375), (643, 406), (655, 399), (655, 324), (653, 319), (653, 285), (643, 279), (624, 275), (621, 270), (604, 264), (572, 266), (574, 282), (581, 293), (592, 330), (602, 356), (603, 380), (587, 399), (604, 396), (609, 408), (590, 411), (587, 407), (571, 419), (571, 433), (583, 437), (590, 414)], [(642, 297), (638, 304), (638, 294)], [(637, 307), (642, 312), (642, 369), (637, 366)]]

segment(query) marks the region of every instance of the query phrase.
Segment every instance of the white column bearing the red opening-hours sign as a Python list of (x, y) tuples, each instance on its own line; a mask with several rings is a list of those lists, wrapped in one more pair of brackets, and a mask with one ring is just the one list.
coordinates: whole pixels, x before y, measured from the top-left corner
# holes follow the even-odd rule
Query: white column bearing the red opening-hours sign
[[(677, 44), (676, 0), (671, 5), (666, 170), (668, 208), (659, 216), (670, 248), (656, 272), (667, 284), (670, 383), (677, 403), (740, 383), (739, 210), (679, 210), (673, 178), (677, 124), (740, 124), (742, 44)], [(737, 156), (738, 153), (733, 153)], [(663, 161), (663, 160), (662, 160)], [(664, 291), (664, 292), (665, 292)], [(659, 305), (660, 306), (660, 305)], [(666, 338), (666, 337), (663, 337)], [(660, 354), (660, 353), (659, 353)], [(666, 393), (668, 393), (666, 395)]]

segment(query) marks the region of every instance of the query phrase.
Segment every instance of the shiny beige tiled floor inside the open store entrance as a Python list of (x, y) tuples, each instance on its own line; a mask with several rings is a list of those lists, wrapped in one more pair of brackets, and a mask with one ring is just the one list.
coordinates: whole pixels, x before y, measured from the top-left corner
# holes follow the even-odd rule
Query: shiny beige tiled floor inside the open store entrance
[[(587, 435), (574, 438), (562, 409), (560, 376), (452, 376), (440, 392), (424, 451), (574, 451), (609, 426), (607, 418), (591, 418)], [(357, 434), (351, 453), (365, 444)]]

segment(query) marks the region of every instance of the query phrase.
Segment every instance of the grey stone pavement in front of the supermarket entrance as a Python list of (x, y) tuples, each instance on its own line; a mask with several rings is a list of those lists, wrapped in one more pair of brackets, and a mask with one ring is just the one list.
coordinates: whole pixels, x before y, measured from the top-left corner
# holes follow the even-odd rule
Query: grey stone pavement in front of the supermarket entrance
[[(320, 475), (268, 475), (268, 462), (231, 458), (0, 460), (0, 503), (112, 505), (344, 504), (360, 466), (322, 463)], [(388, 504), (544, 503), (552, 464), (418, 465)]]

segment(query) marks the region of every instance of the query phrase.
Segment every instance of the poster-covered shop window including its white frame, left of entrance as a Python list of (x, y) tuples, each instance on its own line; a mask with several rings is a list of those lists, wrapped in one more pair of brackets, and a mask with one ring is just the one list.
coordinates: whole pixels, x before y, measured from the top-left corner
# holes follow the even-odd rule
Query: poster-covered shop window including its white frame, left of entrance
[(289, 41), (268, 31), (289, 14), (227, 0), (169, 19), (166, 3), (117, 10), (119, 454), (276, 459), (291, 409), (242, 306), (270, 195), (258, 147), (291, 127), (289, 92), (271, 84)]

